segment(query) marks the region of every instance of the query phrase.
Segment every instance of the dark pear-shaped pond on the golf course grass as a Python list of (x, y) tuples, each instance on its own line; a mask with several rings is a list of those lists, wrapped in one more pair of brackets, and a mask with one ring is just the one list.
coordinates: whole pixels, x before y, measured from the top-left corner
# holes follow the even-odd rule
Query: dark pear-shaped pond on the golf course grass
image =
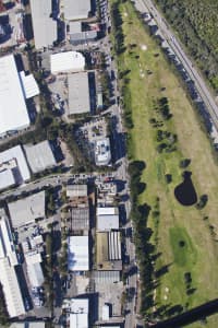
[(197, 201), (197, 194), (191, 179), (191, 172), (183, 173), (183, 181), (174, 188), (174, 196), (177, 200), (185, 206), (193, 206)]

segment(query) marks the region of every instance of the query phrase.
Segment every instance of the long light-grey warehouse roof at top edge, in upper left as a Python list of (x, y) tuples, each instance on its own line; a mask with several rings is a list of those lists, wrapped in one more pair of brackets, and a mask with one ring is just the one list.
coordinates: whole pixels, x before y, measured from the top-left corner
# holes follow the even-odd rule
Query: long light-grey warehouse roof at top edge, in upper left
[(36, 49), (52, 46), (58, 38), (57, 22), (52, 20), (51, 0), (31, 0)]

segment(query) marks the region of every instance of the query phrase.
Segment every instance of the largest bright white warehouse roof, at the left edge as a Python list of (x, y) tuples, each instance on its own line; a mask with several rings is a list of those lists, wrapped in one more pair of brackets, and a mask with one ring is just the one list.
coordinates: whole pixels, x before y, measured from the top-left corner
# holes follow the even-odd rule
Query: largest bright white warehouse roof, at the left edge
[(29, 117), (13, 55), (0, 58), (0, 134), (29, 126)]

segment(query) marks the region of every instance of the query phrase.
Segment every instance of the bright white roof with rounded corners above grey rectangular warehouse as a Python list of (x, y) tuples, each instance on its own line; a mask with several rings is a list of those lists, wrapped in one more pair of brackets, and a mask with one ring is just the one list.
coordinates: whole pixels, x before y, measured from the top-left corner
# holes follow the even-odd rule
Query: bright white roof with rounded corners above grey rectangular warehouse
[(50, 55), (51, 73), (78, 72), (85, 69), (85, 58), (77, 51)]

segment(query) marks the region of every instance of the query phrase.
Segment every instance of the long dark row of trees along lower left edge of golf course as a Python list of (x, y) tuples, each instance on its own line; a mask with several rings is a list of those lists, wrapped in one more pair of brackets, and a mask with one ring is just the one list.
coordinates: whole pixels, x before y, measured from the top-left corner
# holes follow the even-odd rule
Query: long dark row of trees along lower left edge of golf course
[(131, 220), (134, 225), (134, 243), (141, 271), (141, 313), (147, 315), (154, 305), (154, 251), (155, 246), (149, 242), (153, 231), (147, 226), (152, 208), (147, 204), (138, 204), (138, 195), (144, 188), (141, 181), (143, 169), (146, 165), (142, 161), (131, 162), (129, 174), (131, 178)]

